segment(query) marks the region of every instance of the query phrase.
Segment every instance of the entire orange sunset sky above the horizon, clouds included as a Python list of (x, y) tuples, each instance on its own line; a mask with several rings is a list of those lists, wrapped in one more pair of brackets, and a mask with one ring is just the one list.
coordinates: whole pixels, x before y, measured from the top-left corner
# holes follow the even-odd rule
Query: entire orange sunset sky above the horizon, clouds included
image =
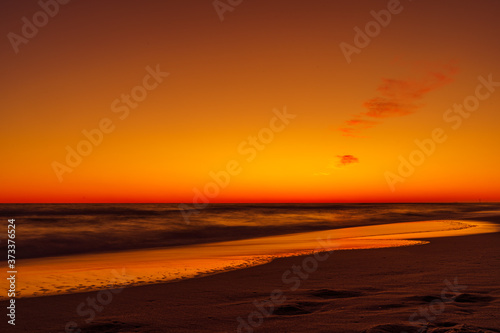
[(499, 201), (493, 0), (0, 5), (0, 202)]

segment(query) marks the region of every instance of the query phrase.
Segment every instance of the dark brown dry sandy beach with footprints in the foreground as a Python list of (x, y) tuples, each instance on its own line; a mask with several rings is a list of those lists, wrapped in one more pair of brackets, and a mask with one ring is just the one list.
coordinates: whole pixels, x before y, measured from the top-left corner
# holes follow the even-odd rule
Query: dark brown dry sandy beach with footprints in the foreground
[[(500, 223), (500, 216), (482, 220)], [(425, 326), (427, 332), (500, 332), (499, 250), (500, 233), (490, 233), (282, 258), (176, 283), (18, 299), (16, 326), (3, 315), (0, 327), (2, 332), (64, 332), (65, 326), (82, 332), (417, 332)], [(6, 306), (1, 302), (5, 313)]]

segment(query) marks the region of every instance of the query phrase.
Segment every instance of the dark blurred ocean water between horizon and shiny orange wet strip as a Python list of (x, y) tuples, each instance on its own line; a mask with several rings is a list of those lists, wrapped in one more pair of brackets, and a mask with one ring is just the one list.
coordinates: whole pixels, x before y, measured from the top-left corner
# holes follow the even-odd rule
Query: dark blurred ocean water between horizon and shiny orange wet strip
[[(16, 219), (17, 258), (27, 259), (474, 218), (499, 210), (498, 203), (212, 204), (187, 223), (178, 204), (0, 204), (0, 217)], [(0, 240), (6, 235), (0, 233)]]

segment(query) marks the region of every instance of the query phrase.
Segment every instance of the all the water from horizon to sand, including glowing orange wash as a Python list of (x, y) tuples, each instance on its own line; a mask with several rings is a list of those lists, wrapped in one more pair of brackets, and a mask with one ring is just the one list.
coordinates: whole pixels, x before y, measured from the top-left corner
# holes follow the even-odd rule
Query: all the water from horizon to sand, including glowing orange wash
[(3, 204), (0, 245), (7, 253), (7, 221), (15, 219), (17, 297), (38, 297), (175, 282), (318, 251), (497, 232), (498, 225), (464, 219), (499, 211), (488, 203), (214, 204), (186, 221), (176, 204)]

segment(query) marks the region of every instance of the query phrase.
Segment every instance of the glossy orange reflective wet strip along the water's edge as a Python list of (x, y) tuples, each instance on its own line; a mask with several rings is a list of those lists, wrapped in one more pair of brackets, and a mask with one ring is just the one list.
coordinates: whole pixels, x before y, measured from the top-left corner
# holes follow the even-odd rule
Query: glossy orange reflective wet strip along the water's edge
[[(245, 269), (280, 257), (330, 250), (420, 245), (419, 238), (500, 231), (476, 220), (424, 220), (285, 234), (177, 248), (26, 259), (17, 298), (178, 282)], [(117, 282), (119, 281), (119, 282)], [(0, 281), (7, 290), (7, 281)], [(5, 299), (2, 295), (0, 299)]]

